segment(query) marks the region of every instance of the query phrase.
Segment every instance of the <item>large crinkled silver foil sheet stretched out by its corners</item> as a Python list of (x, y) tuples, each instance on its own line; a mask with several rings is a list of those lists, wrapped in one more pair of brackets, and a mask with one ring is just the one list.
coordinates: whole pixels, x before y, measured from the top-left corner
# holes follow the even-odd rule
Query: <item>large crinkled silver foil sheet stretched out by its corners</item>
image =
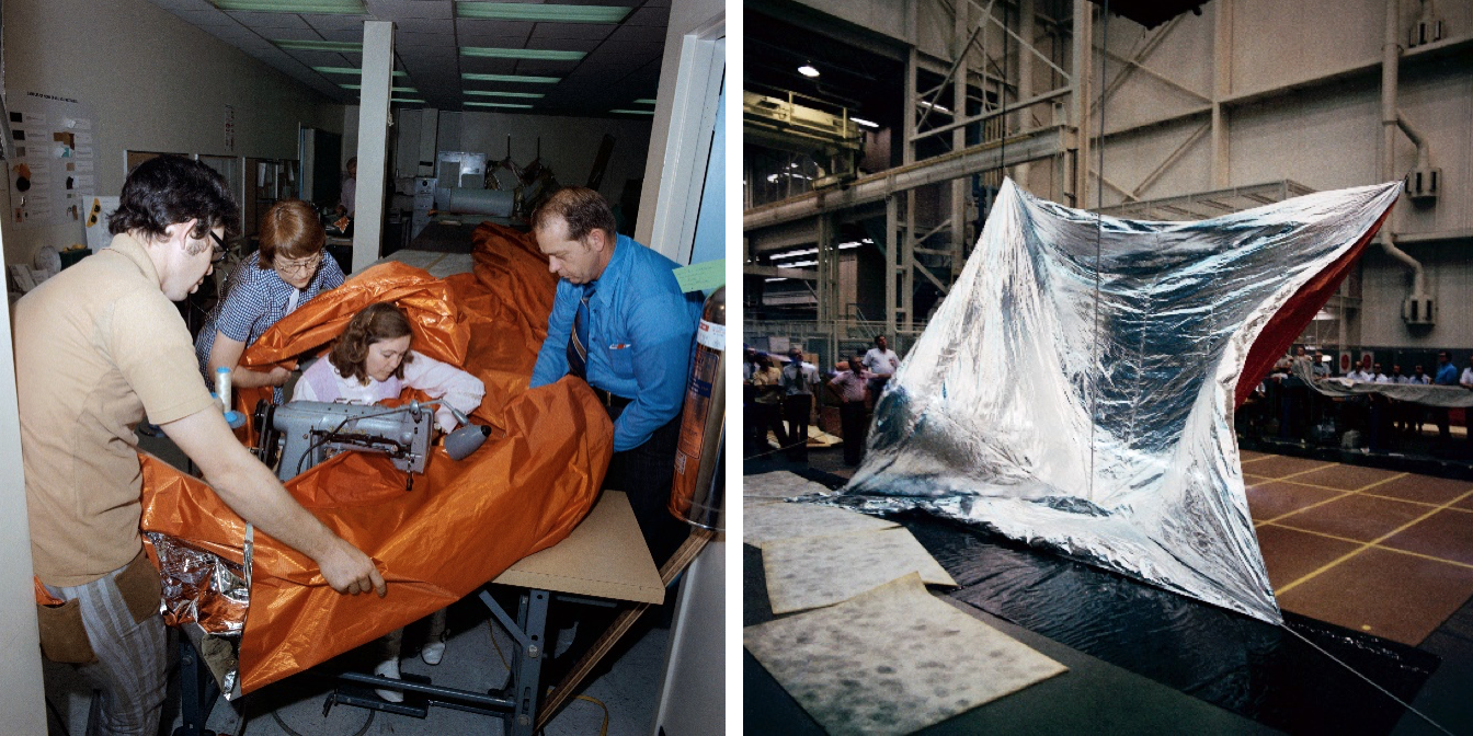
[(1282, 623), (1233, 392), (1268, 319), (1398, 193), (1142, 222), (1006, 181), (835, 500), (924, 509)]

